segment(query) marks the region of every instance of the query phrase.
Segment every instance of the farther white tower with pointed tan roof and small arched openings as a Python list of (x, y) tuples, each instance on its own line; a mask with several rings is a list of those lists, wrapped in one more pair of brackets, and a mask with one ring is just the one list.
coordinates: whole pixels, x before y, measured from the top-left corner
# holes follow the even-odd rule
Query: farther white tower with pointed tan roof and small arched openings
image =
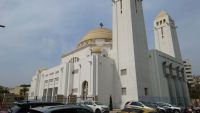
[(182, 60), (175, 22), (164, 11), (154, 21), (154, 34), (156, 49)]

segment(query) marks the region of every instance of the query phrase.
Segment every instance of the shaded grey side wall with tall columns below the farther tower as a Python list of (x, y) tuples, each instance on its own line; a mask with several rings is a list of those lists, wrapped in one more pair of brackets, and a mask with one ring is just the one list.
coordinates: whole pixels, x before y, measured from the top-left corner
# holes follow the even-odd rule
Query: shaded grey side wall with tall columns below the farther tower
[[(174, 69), (179, 67), (179, 71), (182, 71), (184, 68), (182, 61), (179, 59), (173, 58), (158, 50), (151, 50), (149, 52), (149, 75), (151, 76), (153, 101), (163, 101), (182, 106), (188, 105), (190, 99), (185, 75), (177, 73), (176, 70), (172, 72), (166, 70), (164, 72), (164, 62), (166, 62), (166, 66), (172, 65)], [(168, 79), (169, 77), (170, 80)]]

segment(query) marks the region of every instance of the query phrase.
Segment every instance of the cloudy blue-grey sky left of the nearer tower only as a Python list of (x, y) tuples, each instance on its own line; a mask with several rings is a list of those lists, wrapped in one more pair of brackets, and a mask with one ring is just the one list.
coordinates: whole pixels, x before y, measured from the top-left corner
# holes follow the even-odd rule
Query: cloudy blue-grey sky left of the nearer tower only
[(6, 25), (0, 29), (0, 84), (6, 86), (30, 83), (38, 68), (59, 64), (101, 21), (112, 25), (108, 0), (1, 0), (0, 11)]

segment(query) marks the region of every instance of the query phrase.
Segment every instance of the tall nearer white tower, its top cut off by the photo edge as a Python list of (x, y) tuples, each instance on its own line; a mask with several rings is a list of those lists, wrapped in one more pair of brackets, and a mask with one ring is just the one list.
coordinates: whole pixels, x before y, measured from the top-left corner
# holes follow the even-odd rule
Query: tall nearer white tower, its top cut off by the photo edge
[(148, 99), (151, 89), (142, 0), (113, 0), (113, 57), (121, 103)]

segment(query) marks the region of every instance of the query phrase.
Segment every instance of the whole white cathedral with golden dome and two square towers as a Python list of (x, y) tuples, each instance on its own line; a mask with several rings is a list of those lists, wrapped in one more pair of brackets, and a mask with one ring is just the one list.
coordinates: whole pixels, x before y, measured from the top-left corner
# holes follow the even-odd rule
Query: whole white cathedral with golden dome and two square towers
[(142, 0), (113, 0), (113, 29), (89, 31), (60, 65), (39, 69), (29, 99), (99, 100), (119, 108), (126, 101), (190, 103), (173, 19), (154, 22), (155, 50), (148, 50)]

